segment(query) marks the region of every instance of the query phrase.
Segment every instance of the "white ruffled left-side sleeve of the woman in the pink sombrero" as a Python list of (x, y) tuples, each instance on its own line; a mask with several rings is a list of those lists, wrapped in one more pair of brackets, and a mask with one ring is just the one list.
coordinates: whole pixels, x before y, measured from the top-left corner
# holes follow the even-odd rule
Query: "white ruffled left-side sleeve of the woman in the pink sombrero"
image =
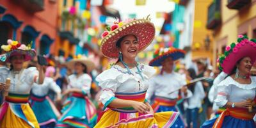
[(223, 107), (228, 102), (228, 95), (230, 95), (231, 86), (228, 86), (227, 79), (217, 85), (217, 96), (214, 102), (217, 106)]

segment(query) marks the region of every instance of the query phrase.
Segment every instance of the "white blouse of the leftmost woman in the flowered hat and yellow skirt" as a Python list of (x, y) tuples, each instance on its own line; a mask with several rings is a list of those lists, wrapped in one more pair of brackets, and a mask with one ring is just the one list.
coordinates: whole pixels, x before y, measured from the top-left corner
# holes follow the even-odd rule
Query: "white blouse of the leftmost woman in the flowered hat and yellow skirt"
[[(2, 69), (0, 70), (2, 72)], [(1, 77), (9, 77), (11, 84), (9, 88), (10, 93), (29, 94), (33, 83), (38, 83), (38, 70), (36, 67), (30, 67), (20, 70), (20, 72), (8, 71), (8, 74)]]

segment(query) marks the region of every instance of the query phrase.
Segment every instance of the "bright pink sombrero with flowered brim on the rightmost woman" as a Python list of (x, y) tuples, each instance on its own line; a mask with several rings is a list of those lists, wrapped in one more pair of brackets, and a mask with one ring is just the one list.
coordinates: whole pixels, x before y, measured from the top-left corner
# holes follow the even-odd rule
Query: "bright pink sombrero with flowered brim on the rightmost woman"
[(255, 54), (256, 40), (249, 40), (248, 36), (239, 35), (237, 43), (233, 42), (228, 45), (224, 54), (220, 54), (217, 64), (220, 70), (223, 70), (226, 74), (230, 74), (238, 60), (248, 56), (252, 59), (253, 63), (256, 59)]

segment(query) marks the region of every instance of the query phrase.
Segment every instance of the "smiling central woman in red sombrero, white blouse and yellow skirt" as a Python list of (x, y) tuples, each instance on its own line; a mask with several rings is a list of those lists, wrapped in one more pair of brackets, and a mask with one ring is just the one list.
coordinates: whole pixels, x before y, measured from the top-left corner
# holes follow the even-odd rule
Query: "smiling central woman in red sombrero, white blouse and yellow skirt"
[(135, 61), (154, 39), (150, 19), (116, 22), (102, 34), (100, 49), (115, 65), (96, 77), (104, 111), (95, 127), (171, 127), (179, 113), (154, 113), (145, 99), (148, 79), (156, 70)]

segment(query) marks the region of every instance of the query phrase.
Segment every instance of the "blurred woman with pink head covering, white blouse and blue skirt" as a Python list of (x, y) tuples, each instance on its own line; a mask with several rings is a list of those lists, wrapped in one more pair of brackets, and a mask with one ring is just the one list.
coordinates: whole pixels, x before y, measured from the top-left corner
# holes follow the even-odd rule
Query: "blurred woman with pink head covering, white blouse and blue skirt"
[[(34, 83), (31, 88), (30, 105), (33, 109), (36, 119), (40, 127), (54, 127), (60, 112), (47, 96), (49, 90), (52, 90), (57, 94), (56, 101), (61, 101), (61, 89), (56, 84), (54, 79), (55, 68), (50, 66), (46, 68), (45, 79), (43, 84)], [(42, 113), (42, 111), (44, 111)]]

